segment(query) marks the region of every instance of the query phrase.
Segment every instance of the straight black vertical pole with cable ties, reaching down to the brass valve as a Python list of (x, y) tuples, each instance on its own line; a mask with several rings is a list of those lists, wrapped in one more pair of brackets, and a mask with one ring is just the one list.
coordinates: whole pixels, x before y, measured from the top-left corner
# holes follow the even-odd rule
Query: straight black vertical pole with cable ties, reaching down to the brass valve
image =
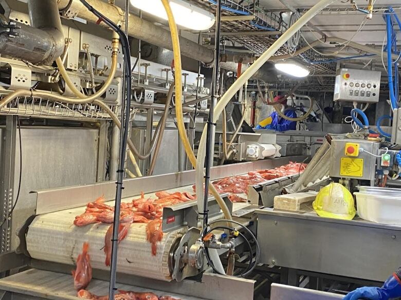
[[(210, 99), (210, 107), (209, 107), (209, 118), (207, 124), (207, 135), (206, 135), (206, 163), (205, 163), (205, 198), (204, 198), (204, 206), (203, 213), (199, 213), (203, 215), (203, 226), (205, 227), (208, 224), (208, 199), (209, 199), (209, 183), (210, 183), (210, 167), (213, 164), (212, 159), (214, 155), (214, 145), (212, 145), (212, 134), (213, 128), (215, 126), (213, 124), (213, 110), (214, 110), (214, 100), (216, 99), (216, 82), (218, 76), (218, 67), (220, 66), (220, 25), (221, 25), (221, 15), (222, 15), (222, 0), (218, 0), (217, 2), (217, 12), (216, 12), (216, 34), (214, 41), (214, 69), (213, 69), (213, 77), (212, 77), (212, 86), (211, 86), (211, 99)], [(213, 147), (213, 149), (212, 149)]]

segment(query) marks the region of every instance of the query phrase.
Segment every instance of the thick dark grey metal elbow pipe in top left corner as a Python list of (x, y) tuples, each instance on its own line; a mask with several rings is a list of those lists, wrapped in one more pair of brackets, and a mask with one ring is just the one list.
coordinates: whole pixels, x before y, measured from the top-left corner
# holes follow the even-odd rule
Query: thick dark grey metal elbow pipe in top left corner
[[(54, 0), (28, 0), (31, 26), (13, 22), (0, 29), (0, 54), (32, 64), (50, 64), (64, 51), (59, 9)], [(1, 28), (0, 27), (0, 28)]]

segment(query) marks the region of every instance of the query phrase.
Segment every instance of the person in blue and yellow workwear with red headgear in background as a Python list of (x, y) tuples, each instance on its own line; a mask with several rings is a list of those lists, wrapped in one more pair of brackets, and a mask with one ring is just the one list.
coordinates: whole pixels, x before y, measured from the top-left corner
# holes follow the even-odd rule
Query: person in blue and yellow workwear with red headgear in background
[[(274, 101), (277, 102), (281, 99), (281, 96), (275, 97)], [(293, 107), (288, 107), (288, 105), (283, 104), (280, 106), (281, 112), (284, 113), (285, 116), (296, 118), (297, 113)], [(297, 129), (297, 122), (289, 121), (283, 117), (281, 117), (277, 111), (271, 113), (271, 115), (259, 123), (256, 129), (270, 129), (275, 131), (287, 131), (287, 130), (295, 130)]]

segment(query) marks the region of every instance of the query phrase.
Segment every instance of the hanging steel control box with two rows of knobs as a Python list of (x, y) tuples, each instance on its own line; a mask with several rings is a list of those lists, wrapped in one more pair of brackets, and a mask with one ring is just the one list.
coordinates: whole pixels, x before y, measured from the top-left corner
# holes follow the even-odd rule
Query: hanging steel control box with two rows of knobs
[(339, 69), (334, 86), (334, 101), (377, 103), (380, 71)]

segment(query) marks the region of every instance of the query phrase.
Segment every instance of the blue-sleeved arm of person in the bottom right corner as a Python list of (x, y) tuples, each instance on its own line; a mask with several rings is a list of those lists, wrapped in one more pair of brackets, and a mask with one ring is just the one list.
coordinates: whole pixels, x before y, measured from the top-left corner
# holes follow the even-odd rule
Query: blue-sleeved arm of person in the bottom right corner
[(359, 288), (349, 293), (343, 300), (392, 300), (399, 297), (401, 297), (401, 267), (387, 279), (381, 288)]

